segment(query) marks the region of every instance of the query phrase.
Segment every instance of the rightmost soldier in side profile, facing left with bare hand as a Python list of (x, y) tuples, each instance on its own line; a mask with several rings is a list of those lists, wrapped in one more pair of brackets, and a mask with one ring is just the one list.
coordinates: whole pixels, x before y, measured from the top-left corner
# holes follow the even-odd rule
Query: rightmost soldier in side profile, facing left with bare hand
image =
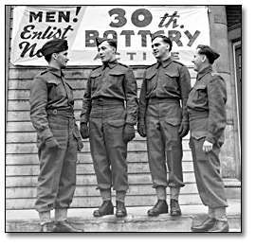
[(210, 46), (199, 44), (192, 60), (198, 74), (188, 99), (190, 147), (198, 192), (209, 207), (208, 219), (192, 226), (193, 232), (229, 232), (219, 160), (226, 127), (227, 89), (225, 80), (212, 71), (218, 57)]

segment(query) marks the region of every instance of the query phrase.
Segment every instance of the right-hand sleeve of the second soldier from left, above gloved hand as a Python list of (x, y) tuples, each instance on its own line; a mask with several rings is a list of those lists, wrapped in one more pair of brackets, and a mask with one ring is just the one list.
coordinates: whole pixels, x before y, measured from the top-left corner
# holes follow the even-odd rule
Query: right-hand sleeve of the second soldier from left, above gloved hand
[(137, 81), (134, 72), (128, 67), (124, 77), (124, 90), (126, 98), (126, 123), (137, 123)]

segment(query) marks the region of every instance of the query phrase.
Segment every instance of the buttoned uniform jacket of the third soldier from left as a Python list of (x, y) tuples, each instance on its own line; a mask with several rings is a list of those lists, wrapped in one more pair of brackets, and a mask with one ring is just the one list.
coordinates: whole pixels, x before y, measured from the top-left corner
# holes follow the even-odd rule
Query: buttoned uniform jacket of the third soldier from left
[(138, 125), (145, 125), (149, 98), (177, 98), (182, 100), (182, 123), (188, 124), (187, 100), (191, 90), (191, 76), (187, 67), (171, 57), (149, 66), (143, 77), (139, 97)]

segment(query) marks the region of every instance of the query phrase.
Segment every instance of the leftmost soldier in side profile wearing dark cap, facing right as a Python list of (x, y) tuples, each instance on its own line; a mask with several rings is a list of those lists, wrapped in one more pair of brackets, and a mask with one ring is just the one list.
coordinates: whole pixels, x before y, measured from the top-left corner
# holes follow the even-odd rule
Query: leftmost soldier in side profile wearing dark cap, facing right
[[(40, 52), (48, 66), (33, 79), (30, 90), (30, 117), (40, 160), (35, 209), (41, 232), (82, 232), (66, 221), (76, 188), (77, 151), (82, 150), (72, 86), (62, 72), (68, 62), (67, 49), (67, 41), (62, 39), (43, 45)], [(52, 209), (55, 224), (50, 219)]]

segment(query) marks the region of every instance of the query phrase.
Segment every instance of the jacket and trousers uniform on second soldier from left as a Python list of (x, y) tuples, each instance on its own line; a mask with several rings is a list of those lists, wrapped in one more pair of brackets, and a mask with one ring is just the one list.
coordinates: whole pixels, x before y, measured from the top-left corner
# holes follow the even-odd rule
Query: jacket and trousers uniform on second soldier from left
[(81, 123), (89, 123), (90, 150), (101, 190), (112, 185), (118, 191), (128, 189), (123, 130), (125, 124), (136, 122), (137, 82), (132, 69), (117, 61), (94, 69), (82, 100)]

